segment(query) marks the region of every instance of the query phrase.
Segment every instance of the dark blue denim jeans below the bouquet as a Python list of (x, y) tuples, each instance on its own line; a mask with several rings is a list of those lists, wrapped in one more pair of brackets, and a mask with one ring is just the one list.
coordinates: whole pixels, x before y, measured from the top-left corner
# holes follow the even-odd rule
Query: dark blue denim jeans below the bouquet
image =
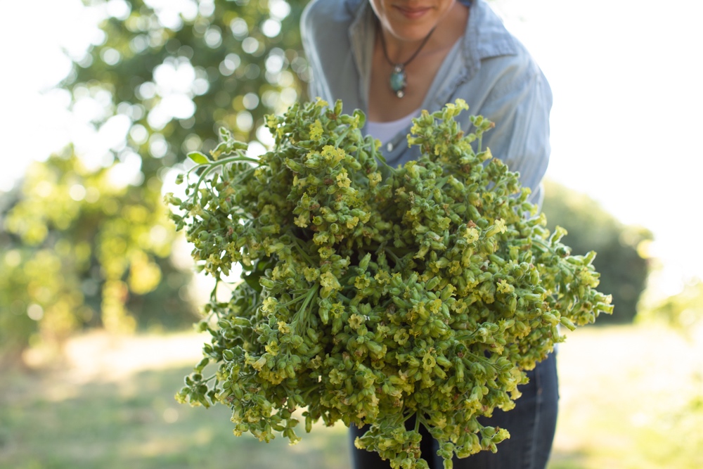
[[(552, 449), (557, 423), (557, 402), (559, 400), (556, 354), (550, 354), (528, 371), (529, 383), (520, 386), (522, 397), (515, 401), (515, 409), (503, 412), (496, 409), (491, 418), (480, 419), (483, 425), (498, 426), (510, 432), (510, 439), (498, 444), (496, 454), (480, 451), (468, 458), (453, 458), (455, 469), (543, 469), (547, 465)], [(377, 453), (356, 449), (354, 439), (366, 432), (366, 428), (352, 425), (352, 461), (354, 469), (387, 469), (388, 461), (383, 461)], [(420, 425), (423, 440), (420, 451), (430, 464), (430, 469), (443, 468), (442, 459), (437, 456), (439, 444)]]

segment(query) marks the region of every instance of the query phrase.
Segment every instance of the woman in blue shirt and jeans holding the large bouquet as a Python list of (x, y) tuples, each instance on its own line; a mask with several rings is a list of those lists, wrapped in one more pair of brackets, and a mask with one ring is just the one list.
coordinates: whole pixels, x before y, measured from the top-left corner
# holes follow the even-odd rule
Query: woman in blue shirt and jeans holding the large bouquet
[[(463, 98), (471, 114), (496, 123), (483, 138), (541, 203), (540, 182), (549, 155), (549, 85), (541, 70), (483, 0), (314, 0), (301, 20), (313, 72), (310, 95), (347, 112), (366, 113), (364, 131), (382, 142), (390, 165), (418, 158), (406, 134), (420, 110), (439, 110)], [(457, 117), (470, 127), (469, 113)], [(541, 469), (549, 456), (557, 416), (552, 355), (528, 373), (515, 409), (484, 423), (510, 431), (498, 453), (456, 459), (455, 468)], [(352, 439), (363, 434), (352, 428)], [(423, 458), (440, 468), (430, 435)], [(355, 468), (387, 468), (377, 454), (353, 450)]]

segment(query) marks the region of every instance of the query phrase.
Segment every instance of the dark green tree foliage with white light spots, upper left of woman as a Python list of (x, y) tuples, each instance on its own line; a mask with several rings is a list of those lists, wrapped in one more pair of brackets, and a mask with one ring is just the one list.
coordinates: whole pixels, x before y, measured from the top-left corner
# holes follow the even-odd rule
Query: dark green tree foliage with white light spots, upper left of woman
[(304, 1), (124, 3), (129, 15), (105, 20), (103, 44), (65, 87), (75, 100), (107, 92), (108, 115), (131, 121), (127, 147), (143, 157), (145, 176), (202, 148), (200, 139), (214, 146), (219, 127), (257, 139), (264, 115), (299, 97)]

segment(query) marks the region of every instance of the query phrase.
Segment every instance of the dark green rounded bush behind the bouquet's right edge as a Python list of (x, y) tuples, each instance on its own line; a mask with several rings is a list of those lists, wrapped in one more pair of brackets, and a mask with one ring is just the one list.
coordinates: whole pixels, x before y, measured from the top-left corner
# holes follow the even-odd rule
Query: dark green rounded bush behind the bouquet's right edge
[(644, 255), (652, 233), (638, 226), (624, 226), (595, 200), (561, 186), (545, 183), (543, 212), (549, 229), (559, 225), (567, 229), (564, 243), (574, 254), (595, 251), (593, 265), (600, 272), (598, 290), (613, 296), (612, 316), (604, 314), (599, 324), (629, 323), (637, 314), (650, 265)]

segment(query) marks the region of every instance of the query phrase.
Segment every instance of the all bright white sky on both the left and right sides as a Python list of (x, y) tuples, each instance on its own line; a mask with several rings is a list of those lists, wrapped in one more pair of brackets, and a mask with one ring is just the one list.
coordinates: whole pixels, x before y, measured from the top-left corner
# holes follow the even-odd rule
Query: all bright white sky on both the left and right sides
[[(112, 6), (118, 6), (113, 0)], [(95, 38), (79, 0), (4, 0), (0, 29), (0, 191), (28, 162), (79, 134), (67, 96), (39, 91), (65, 76), (60, 46), (80, 56)], [(588, 193), (626, 224), (654, 232), (659, 287), (703, 277), (698, 205), (703, 174), (703, 2), (496, 0), (553, 90), (548, 177)], [(93, 136), (93, 141), (95, 141)]]

